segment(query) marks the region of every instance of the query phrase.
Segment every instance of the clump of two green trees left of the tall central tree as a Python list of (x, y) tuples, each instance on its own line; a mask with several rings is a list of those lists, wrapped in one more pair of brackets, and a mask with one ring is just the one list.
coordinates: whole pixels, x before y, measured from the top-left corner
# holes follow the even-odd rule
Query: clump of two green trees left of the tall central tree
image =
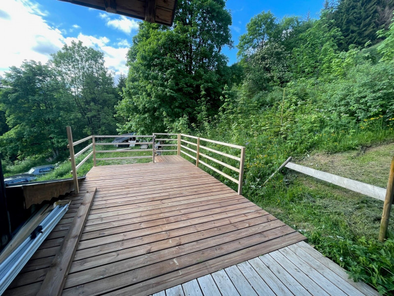
[(120, 98), (103, 54), (82, 42), (54, 53), (45, 65), (25, 61), (1, 79), (1, 152), (11, 160), (64, 153), (66, 126), (74, 137), (116, 130)]

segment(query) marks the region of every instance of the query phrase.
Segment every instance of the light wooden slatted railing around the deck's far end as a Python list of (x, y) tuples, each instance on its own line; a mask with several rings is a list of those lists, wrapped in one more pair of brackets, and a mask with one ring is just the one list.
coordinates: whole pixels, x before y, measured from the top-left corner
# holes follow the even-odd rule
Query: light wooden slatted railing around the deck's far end
[[(116, 145), (117, 143), (99, 143), (97, 142), (97, 138), (119, 138), (124, 136), (129, 137), (129, 138), (144, 138), (144, 139), (152, 139), (152, 141), (142, 141), (142, 142), (122, 142), (119, 143), (119, 145), (127, 145), (127, 144), (133, 144), (133, 145), (152, 145), (151, 149), (122, 149), (122, 150), (98, 150), (96, 149), (97, 146), (101, 145)], [(177, 136), (174, 138), (174, 136)], [(91, 157), (93, 156), (93, 165), (97, 165), (97, 160), (117, 160), (117, 159), (139, 159), (139, 158), (152, 158), (153, 162), (155, 162), (155, 154), (156, 153), (161, 153), (161, 152), (173, 152), (174, 154), (177, 154), (179, 156), (186, 155), (194, 160), (196, 160), (196, 166), (198, 167), (199, 164), (204, 165), (205, 167), (211, 169), (212, 171), (218, 173), (219, 175), (229, 179), (230, 181), (236, 183), (238, 185), (238, 194), (242, 194), (242, 183), (243, 183), (243, 169), (244, 169), (244, 162), (245, 162), (245, 147), (238, 146), (238, 145), (233, 145), (233, 144), (228, 144), (224, 142), (218, 142), (214, 140), (209, 140), (205, 138), (199, 138), (195, 136), (190, 136), (190, 135), (184, 135), (184, 134), (168, 134), (168, 133), (154, 133), (153, 135), (99, 135), (99, 136), (89, 136), (84, 139), (81, 139), (79, 141), (73, 142), (72, 140), (72, 133), (71, 133), (71, 127), (67, 126), (67, 137), (68, 137), (68, 145), (67, 148), (69, 148), (70, 151), (70, 158), (69, 160), (71, 161), (71, 174), (74, 180), (74, 191), (76, 193), (79, 192), (79, 186), (78, 186), (78, 179), (77, 179), (77, 171), (78, 169)], [(185, 140), (187, 138), (188, 140)], [(74, 153), (74, 146), (81, 144), (85, 141), (92, 140), (92, 143), (87, 145), (85, 148), (82, 148), (79, 152)], [(193, 142), (195, 141), (195, 143)], [(222, 147), (228, 147), (239, 151), (240, 156), (232, 155), (230, 153), (226, 153), (223, 151), (219, 151), (217, 149), (209, 148), (207, 147), (207, 144), (204, 144), (204, 142), (209, 143), (209, 144), (216, 144), (217, 146), (222, 146)], [(204, 144), (201, 145), (200, 143)], [(189, 146), (189, 147), (188, 147)], [(191, 148), (190, 146), (196, 147), (195, 149)], [(173, 147), (176, 147), (176, 149), (173, 149)], [(82, 155), (85, 151), (88, 149), (92, 148), (92, 151), (83, 159), (81, 160), (78, 164), (76, 164), (76, 157)], [(203, 150), (203, 152), (200, 151), (200, 149)], [(127, 156), (127, 157), (97, 157), (97, 153), (113, 153), (113, 152), (147, 152), (151, 151), (151, 155), (143, 155), (143, 156)], [(206, 152), (208, 151), (208, 152)], [(207, 155), (209, 152), (211, 152), (211, 155)], [(195, 155), (192, 155), (191, 153), (194, 153)], [(219, 159), (216, 159), (214, 156), (212, 156), (214, 153), (215, 155), (221, 155), (224, 156), (226, 159), (233, 159), (236, 162), (239, 162), (239, 165), (233, 166), (225, 162), (225, 160), (221, 161)], [(236, 153), (238, 154), (238, 153)], [(213, 167), (212, 165), (206, 163), (205, 161), (202, 161), (200, 158), (208, 159), (209, 161), (212, 161), (220, 166), (226, 167), (238, 174), (238, 179), (235, 179), (231, 177), (230, 175), (222, 172), (222, 170)]]

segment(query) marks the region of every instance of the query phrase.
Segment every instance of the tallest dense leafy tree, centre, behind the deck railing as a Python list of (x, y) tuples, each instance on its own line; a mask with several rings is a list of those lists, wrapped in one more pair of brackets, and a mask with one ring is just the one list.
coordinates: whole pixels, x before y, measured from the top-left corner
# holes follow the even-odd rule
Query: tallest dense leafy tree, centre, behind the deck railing
[[(172, 28), (141, 23), (128, 54), (129, 75), (117, 116), (119, 130), (151, 133), (172, 128), (184, 115), (198, 121), (203, 96), (208, 117), (220, 107), (231, 78), (224, 46), (231, 46), (224, 0), (180, 0)], [(203, 95), (202, 95), (203, 94)]]

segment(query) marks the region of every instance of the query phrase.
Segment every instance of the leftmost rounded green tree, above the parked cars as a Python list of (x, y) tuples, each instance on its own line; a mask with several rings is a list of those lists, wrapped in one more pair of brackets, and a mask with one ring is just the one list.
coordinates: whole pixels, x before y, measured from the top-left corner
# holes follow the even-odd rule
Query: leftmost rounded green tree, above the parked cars
[(11, 158), (47, 153), (59, 156), (66, 145), (69, 102), (57, 95), (54, 72), (47, 65), (25, 61), (2, 79), (1, 109), (10, 130), (0, 137)]

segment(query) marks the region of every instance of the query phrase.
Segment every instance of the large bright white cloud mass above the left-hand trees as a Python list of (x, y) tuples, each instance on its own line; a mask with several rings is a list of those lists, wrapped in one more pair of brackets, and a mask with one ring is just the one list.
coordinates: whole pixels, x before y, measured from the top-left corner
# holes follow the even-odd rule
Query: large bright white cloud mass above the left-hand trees
[[(105, 66), (115, 74), (127, 74), (126, 54), (130, 47), (127, 40), (120, 40), (115, 47), (109, 38), (79, 33), (77, 37), (65, 37), (66, 31), (50, 26), (44, 19), (46, 11), (33, 1), (7, 0), (0, 13), (0, 74), (10, 66), (19, 67), (23, 60), (46, 63), (50, 54), (58, 51), (72, 40), (82, 41), (104, 53)], [(77, 24), (71, 26), (80, 29)]]

